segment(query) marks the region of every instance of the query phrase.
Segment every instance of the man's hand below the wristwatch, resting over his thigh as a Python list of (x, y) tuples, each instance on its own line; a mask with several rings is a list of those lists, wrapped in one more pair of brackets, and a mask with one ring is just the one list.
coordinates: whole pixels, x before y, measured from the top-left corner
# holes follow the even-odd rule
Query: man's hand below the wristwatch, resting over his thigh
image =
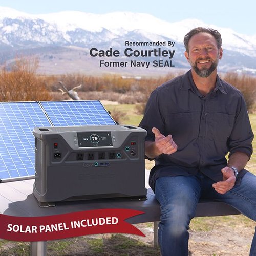
[(212, 187), (220, 193), (225, 194), (227, 191), (233, 188), (234, 183), (236, 182), (236, 177), (234, 177), (234, 172), (229, 167), (225, 167), (221, 170), (223, 174), (223, 181), (212, 184)]

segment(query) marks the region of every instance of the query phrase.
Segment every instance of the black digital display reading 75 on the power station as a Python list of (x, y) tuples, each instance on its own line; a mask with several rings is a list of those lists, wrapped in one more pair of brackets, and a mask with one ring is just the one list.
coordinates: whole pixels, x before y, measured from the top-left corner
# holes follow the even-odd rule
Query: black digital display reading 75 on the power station
[(111, 132), (77, 133), (79, 147), (113, 146)]

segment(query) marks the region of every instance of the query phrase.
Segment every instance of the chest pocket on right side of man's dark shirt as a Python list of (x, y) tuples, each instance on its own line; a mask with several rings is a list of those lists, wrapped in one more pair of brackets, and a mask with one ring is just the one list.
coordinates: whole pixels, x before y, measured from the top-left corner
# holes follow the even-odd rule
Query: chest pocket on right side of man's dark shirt
[(235, 114), (211, 113), (208, 116), (209, 139), (216, 141), (227, 141), (234, 124)]

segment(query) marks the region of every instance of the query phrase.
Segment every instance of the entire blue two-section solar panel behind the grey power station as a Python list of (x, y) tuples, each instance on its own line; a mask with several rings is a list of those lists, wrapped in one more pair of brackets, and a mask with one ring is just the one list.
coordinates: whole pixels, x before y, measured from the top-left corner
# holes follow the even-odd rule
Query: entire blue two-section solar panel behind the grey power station
[(34, 127), (109, 124), (97, 100), (0, 102), (0, 182), (34, 177)]

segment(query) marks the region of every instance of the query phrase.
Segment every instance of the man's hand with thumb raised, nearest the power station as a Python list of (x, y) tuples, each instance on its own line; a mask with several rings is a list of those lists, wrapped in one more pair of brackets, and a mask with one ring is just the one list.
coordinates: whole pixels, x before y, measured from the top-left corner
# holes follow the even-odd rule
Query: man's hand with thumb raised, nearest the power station
[(177, 151), (178, 146), (174, 142), (172, 135), (165, 137), (155, 127), (152, 128), (152, 132), (155, 134), (155, 144), (161, 154), (170, 155)]

